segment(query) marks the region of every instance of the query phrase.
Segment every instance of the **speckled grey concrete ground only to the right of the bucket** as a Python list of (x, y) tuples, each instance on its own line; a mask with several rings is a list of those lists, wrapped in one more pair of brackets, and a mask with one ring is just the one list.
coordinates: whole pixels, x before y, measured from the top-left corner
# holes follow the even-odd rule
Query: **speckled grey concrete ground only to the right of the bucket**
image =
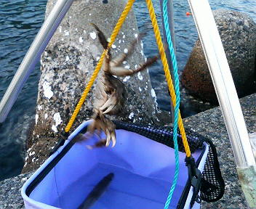
[[(256, 131), (256, 94), (244, 97), (239, 102), (247, 131), (253, 133)], [(192, 129), (208, 139), (212, 139), (217, 149), (220, 170), (225, 182), (223, 198), (217, 202), (202, 202), (201, 208), (248, 208), (239, 183), (231, 142), (228, 138), (220, 107), (185, 118), (183, 122), (185, 129)]]

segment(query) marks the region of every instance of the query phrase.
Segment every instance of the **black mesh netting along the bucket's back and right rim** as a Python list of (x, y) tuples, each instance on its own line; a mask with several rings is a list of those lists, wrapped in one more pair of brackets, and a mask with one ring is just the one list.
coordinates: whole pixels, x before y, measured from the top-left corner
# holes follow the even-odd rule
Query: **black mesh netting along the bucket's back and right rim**
[[(161, 144), (165, 144), (169, 147), (174, 147), (172, 139), (173, 128), (172, 127), (158, 127), (158, 126), (148, 126), (142, 124), (134, 123), (123, 123), (120, 121), (114, 121), (116, 124), (116, 129), (124, 129), (127, 131), (132, 131), (142, 136), (148, 137)], [(217, 160), (217, 152), (215, 145), (210, 139), (207, 139), (194, 131), (186, 130), (188, 144), (191, 152), (195, 152), (196, 149), (203, 146), (203, 143), (207, 143), (209, 146), (209, 152), (207, 155), (207, 160), (204, 165), (204, 171), (202, 173), (201, 179), (201, 189), (200, 197), (201, 200), (207, 202), (215, 202), (220, 200), (224, 194), (225, 184), (223, 177), (220, 172), (220, 165)], [(177, 136), (178, 146), (180, 152), (185, 152), (183, 147), (183, 141), (180, 133)], [(186, 194), (184, 194), (185, 196)], [(180, 202), (177, 208), (183, 208), (183, 197), (180, 197)]]

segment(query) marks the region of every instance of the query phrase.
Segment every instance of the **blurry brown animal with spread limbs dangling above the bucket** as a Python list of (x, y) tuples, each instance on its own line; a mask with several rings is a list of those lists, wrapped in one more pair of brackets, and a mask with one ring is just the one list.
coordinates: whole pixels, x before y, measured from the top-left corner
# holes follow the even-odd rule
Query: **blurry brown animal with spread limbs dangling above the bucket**
[[(143, 65), (139, 65), (135, 70), (127, 69), (121, 66), (122, 62), (129, 56), (135, 49), (135, 44), (140, 40), (141, 35), (138, 36), (127, 49), (127, 53), (122, 53), (115, 59), (112, 59), (111, 49), (108, 49), (108, 41), (105, 38), (104, 33), (97, 27), (97, 25), (91, 23), (97, 30), (97, 36), (100, 44), (106, 50), (105, 58), (103, 60), (103, 70), (97, 80), (95, 99), (94, 99), (94, 115), (92, 116), (92, 123), (88, 127), (90, 134), (97, 134), (100, 136), (100, 132), (105, 133), (106, 139), (101, 139), (100, 142), (92, 147), (101, 147), (108, 145), (112, 142), (112, 147), (116, 144), (116, 126), (107, 118), (108, 115), (117, 115), (121, 112), (121, 109), (126, 100), (126, 89), (124, 83), (121, 82), (116, 76), (133, 75), (134, 73), (144, 70), (145, 67), (152, 65), (158, 59), (157, 56), (149, 58)], [(85, 137), (85, 136), (84, 136)], [(84, 137), (79, 137), (79, 141)]]

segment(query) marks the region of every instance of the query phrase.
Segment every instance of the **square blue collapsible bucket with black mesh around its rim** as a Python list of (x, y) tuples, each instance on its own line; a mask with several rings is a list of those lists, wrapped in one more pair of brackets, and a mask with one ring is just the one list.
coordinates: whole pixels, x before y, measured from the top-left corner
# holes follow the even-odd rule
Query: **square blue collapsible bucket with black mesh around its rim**
[[(74, 143), (74, 136), (86, 133), (89, 121), (76, 128), (23, 185), (25, 208), (164, 208), (175, 173), (172, 128), (115, 123), (113, 148), (87, 149), (98, 142), (95, 135)], [(199, 208), (198, 202), (191, 204), (195, 189), (188, 178), (181, 137), (178, 140), (180, 173), (169, 208)], [(217, 158), (212, 157), (215, 147), (194, 133), (188, 133), (188, 142), (199, 170), (209, 164), (201, 199), (219, 200), (224, 186)]]

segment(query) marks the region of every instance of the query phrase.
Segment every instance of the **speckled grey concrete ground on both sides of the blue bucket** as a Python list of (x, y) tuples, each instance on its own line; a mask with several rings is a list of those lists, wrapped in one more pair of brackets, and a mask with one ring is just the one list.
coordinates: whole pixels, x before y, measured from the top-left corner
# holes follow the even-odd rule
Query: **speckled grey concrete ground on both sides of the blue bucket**
[[(256, 131), (256, 94), (240, 99), (249, 133)], [(212, 139), (219, 156), (220, 168), (225, 181), (224, 197), (217, 202), (202, 202), (202, 208), (247, 208), (241, 192), (231, 144), (225, 129), (220, 107), (200, 112), (183, 119), (185, 128)], [(25, 173), (0, 182), (0, 208), (24, 208), (20, 189), (32, 173)]]

